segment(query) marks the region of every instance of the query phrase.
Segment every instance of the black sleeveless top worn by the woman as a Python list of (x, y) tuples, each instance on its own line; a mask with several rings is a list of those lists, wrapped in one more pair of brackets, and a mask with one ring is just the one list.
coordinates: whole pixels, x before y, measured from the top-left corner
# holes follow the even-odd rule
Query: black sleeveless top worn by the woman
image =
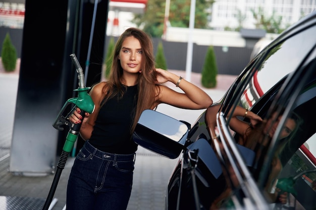
[(126, 87), (122, 98), (113, 97), (101, 106), (89, 139), (92, 146), (112, 154), (136, 152), (137, 145), (132, 139), (130, 129), (135, 115), (137, 93), (137, 85)]

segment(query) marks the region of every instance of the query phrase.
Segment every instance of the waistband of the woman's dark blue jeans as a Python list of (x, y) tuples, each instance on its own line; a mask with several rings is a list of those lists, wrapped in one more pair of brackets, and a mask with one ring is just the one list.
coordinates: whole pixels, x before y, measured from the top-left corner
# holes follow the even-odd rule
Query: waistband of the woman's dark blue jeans
[(112, 160), (112, 161), (134, 161), (135, 153), (129, 155), (120, 155), (102, 152), (95, 147), (93, 147), (89, 141), (86, 141), (83, 148), (85, 148), (92, 156), (100, 158), (102, 160)]

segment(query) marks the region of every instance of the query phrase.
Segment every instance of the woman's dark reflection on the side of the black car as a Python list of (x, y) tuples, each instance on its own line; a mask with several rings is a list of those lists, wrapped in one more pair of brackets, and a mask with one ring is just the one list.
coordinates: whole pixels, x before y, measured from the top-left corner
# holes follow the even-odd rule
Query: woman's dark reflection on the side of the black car
[[(216, 113), (219, 110), (219, 106), (213, 106), (207, 109), (205, 121), (209, 129), (212, 138), (216, 137), (215, 126), (216, 126)], [(256, 164), (260, 164), (263, 160), (261, 154), (265, 154), (267, 147), (279, 125), (282, 118), (283, 112), (279, 113), (273, 112), (273, 114), (265, 120), (262, 120), (258, 115), (253, 112), (237, 106), (235, 111), (232, 113), (232, 118), (229, 121), (230, 128), (238, 134), (237, 142), (256, 153)], [(230, 116), (230, 113), (228, 114)], [(250, 120), (250, 124), (240, 120), (238, 117), (247, 117)], [(275, 153), (275, 158), (272, 161), (270, 176), (267, 180), (266, 190), (270, 192), (271, 186), (273, 186), (276, 178), (282, 170), (282, 164), (279, 159), (279, 154), (283, 149), (285, 139), (289, 139), (296, 132), (299, 127), (300, 120), (296, 114), (289, 116), (279, 134), (279, 147)], [(274, 193), (269, 193), (271, 202), (276, 201), (278, 197), (278, 192), (280, 190), (276, 189)], [(287, 193), (280, 195), (279, 200), (282, 203), (286, 203)]]

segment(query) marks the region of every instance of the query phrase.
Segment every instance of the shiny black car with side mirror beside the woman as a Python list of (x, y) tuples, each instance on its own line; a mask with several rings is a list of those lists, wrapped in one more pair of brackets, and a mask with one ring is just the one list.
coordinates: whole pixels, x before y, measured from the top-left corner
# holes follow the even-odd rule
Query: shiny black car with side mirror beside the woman
[[(244, 116), (234, 116), (237, 109)], [(256, 133), (250, 111), (266, 123)], [(238, 133), (234, 120), (246, 122), (251, 134)], [(256, 55), (192, 126), (145, 110), (133, 137), (155, 153), (179, 158), (167, 187), (167, 210), (311, 210), (316, 209), (315, 120), (316, 12)], [(284, 192), (287, 202), (281, 203)]]

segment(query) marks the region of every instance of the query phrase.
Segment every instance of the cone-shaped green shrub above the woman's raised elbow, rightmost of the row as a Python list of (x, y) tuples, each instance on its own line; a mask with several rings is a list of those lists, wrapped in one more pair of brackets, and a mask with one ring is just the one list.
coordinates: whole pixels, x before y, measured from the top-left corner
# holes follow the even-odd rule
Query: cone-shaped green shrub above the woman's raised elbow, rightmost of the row
[(214, 48), (213, 46), (209, 46), (206, 52), (205, 61), (202, 68), (202, 86), (205, 88), (215, 88), (217, 85), (217, 73), (218, 69)]

